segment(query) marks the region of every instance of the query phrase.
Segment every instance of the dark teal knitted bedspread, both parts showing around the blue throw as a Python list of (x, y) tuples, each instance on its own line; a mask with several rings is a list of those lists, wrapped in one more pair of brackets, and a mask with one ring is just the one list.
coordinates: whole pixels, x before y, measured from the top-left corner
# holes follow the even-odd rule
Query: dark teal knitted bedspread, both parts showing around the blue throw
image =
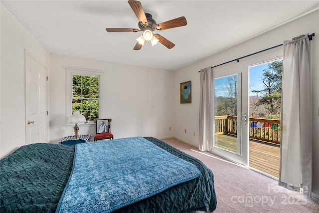
[[(202, 175), (113, 213), (214, 211), (217, 200), (211, 170), (157, 138), (145, 139), (195, 165)], [(74, 148), (74, 145), (30, 144), (1, 159), (0, 212), (54, 213), (72, 171)]]

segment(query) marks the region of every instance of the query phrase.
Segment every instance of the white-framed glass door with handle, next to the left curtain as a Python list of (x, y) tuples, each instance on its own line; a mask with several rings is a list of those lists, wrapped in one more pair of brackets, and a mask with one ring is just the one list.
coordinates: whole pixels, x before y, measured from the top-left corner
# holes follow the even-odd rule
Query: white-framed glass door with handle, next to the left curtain
[(248, 67), (213, 75), (213, 153), (248, 165)]

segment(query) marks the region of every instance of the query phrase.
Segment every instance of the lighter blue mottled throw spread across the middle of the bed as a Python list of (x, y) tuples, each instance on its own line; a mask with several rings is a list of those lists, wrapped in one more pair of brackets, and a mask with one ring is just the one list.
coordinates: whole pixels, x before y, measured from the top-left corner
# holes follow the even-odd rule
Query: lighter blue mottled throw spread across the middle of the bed
[(77, 144), (57, 213), (109, 213), (201, 173), (143, 137)]

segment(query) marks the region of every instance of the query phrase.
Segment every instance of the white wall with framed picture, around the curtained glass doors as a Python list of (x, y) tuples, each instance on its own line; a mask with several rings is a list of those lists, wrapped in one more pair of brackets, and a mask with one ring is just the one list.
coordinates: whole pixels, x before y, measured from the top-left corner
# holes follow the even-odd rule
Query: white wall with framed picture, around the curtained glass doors
[[(193, 137), (193, 131), (196, 131), (196, 133), (198, 131), (198, 96), (200, 80), (200, 74), (198, 71), (201, 68), (218, 65), (256, 51), (276, 46), (283, 43), (284, 40), (291, 40), (292, 37), (305, 34), (307, 32), (316, 33), (316, 36), (311, 41), (313, 96), (313, 192), (319, 196), (319, 10), (205, 58), (197, 63), (176, 70), (174, 81), (175, 136), (187, 143), (198, 146), (198, 134), (196, 134), (196, 137)], [(192, 103), (179, 104), (179, 102), (176, 101), (179, 97), (178, 85), (179, 83), (188, 80), (192, 81)], [(184, 133), (184, 129), (187, 129), (187, 133)]]

